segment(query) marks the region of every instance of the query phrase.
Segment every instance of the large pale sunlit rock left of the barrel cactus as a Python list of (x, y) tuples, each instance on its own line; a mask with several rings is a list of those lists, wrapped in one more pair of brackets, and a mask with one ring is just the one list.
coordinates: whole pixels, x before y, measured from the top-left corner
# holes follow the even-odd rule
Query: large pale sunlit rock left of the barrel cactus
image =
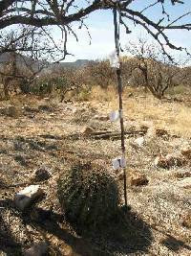
[(39, 185), (31, 185), (14, 196), (14, 204), (19, 210), (24, 211), (33, 201), (43, 196), (44, 192)]

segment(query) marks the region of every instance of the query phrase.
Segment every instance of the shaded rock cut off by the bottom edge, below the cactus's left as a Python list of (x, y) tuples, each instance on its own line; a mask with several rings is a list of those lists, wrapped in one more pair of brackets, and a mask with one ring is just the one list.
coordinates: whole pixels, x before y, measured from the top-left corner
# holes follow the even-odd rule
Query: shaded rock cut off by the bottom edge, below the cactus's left
[(42, 256), (48, 254), (48, 244), (46, 242), (39, 242), (33, 244), (32, 247), (24, 252), (24, 256)]

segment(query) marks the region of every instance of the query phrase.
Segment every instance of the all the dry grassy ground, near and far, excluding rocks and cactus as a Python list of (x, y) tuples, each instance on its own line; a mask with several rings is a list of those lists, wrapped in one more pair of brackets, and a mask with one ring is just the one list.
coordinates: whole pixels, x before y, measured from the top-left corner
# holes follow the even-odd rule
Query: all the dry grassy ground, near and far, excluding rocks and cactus
[[(0, 255), (4, 255), (3, 251), (11, 256), (21, 255), (24, 248), (39, 240), (49, 242), (50, 255), (190, 255), (190, 228), (182, 225), (184, 216), (190, 212), (190, 189), (182, 189), (178, 184), (184, 174), (190, 174), (191, 162), (168, 170), (154, 166), (154, 159), (160, 152), (177, 152), (183, 145), (191, 146), (191, 113), (187, 102), (159, 102), (150, 95), (142, 96), (140, 91), (126, 90), (126, 129), (146, 124), (149, 128), (169, 129), (171, 134), (180, 134), (180, 137), (151, 134), (142, 148), (133, 146), (136, 135), (126, 138), (127, 175), (138, 172), (146, 175), (149, 183), (143, 187), (128, 184), (128, 203), (132, 210), (122, 223), (111, 221), (106, 223), (103, 233), (95, 230), (93, 236), (87, 237), (76, 234), (72, 226), (61, 219), (56, 181), (77, 159), (88, 159), (104, 166), (115, 176), (122, 192), (123, 181), (111, 167), (111, 160), (120, 155), (120, 141), (69, 136), (79, 134), (84, 125), (91, 124), (95, 129), (119, 129), (118, 124), (94, 118), (95, 114), (105, 115), (117, 109), (114, 90), (98, 88), (89, 101), (57, 104), (53, 112), (23, 110), (17, 119), (0, 116)], [(37, 107), (45, 101), (19, 97), (11, 103)], [(76, 119), (77, 113), (80, 122)], [(33, 171), (41, 166), (46, 166), (53, 174), (49, 181), (40, 183), (46, 191), (46, 199), (37, 204), (39, 208), (33, 207), (32, 212), (22, 214), (14, 208), (11, 199), (14, 193), (32, 182)], [(47, 211), (51, 211), (51, 216)]]

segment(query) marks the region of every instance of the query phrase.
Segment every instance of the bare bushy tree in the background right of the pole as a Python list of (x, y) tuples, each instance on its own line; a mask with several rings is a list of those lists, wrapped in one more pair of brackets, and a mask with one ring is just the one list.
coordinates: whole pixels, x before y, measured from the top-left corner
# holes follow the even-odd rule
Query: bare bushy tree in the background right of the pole
[(129, 42), (126, 51), (133, 58), (131, 80), (136, 85), (144, 86), (156, 98), (161, 99), (168, 88), (172, 88), (184, 79), (180, 66), (188, 61), (181, 58), (176, 61), (163, 55), (156, 43), (149, 42), (144, 38)]

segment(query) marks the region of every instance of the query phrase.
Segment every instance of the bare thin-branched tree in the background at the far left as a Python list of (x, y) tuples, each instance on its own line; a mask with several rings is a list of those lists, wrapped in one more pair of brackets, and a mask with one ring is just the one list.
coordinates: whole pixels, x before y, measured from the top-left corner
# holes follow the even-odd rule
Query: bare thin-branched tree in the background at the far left
[(63, 58), (64, 49), (47, 38), (47, 33), (48, 30), (23, 26), (0, 33), (0, 77), (6, 99), (12, 89), (27, 93), (49, 60)]

